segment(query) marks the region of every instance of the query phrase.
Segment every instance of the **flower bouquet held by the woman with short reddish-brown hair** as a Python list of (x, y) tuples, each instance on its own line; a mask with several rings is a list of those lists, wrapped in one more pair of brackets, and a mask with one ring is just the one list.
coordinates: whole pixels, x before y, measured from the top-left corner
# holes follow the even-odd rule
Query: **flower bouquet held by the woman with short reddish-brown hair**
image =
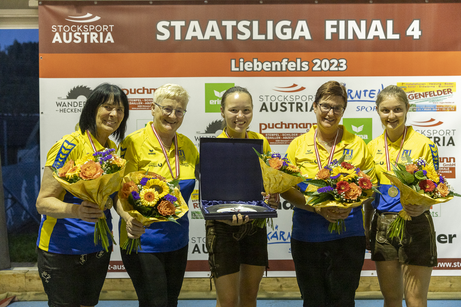
[[(320, 169), (313, 180), (308, 181), (304, 191), (306, 204), (314, 208), (355, 208), (361, 206), (373, 192), (380, 193), (373, 187), (371, 178), (367, 175), (371, 169), (361, 171), (360, 168), (344, 162), (344, 158), (342, 156), (339, 160), (333, 160), (330, 165)], [(345, 231), (344, 220), (330, 222), (328, 230), (338, 234)]]

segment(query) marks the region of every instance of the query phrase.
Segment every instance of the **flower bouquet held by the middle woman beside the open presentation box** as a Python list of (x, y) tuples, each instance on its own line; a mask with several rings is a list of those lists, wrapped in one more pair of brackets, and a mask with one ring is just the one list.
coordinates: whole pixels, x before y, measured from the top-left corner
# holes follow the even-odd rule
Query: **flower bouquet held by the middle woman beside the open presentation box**
[[(290, 187), (306, 180), (301, 174), (299, 167), (291, 164), (286, 157), (287, 155), (282, 158), (277, 151), (267, 151), (263, 155), (255, 149), (254, 151), (259, 156), (264, 190), (268, 196), (275, 193), (282, 193)], [(270, 222), (273, 228), (272, 219), (270, 219)], [(255, 219), (253, 223), (262, 228), (266, 224), (266, 219)], [(269, 219), (267, 219), (267, 223), (269, 223)]]

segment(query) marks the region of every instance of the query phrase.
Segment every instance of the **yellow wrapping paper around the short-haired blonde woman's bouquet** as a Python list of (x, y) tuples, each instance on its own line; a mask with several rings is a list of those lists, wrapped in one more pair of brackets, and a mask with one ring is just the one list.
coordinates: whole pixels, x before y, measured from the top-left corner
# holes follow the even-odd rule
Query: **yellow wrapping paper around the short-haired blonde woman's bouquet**
[[(141, 213), (139, 213), (138, 210), (135, 210), (133, 209), (133, 206), (130, 205), (130, 203), (128, 202), (128, 200), (125, 200), (125, 199), (122, 199), (121, 196), (121, 190), (122, 190), (122, 187), (125, 183), (127, 182), (130, 182), (130, 181), (134, 181), (134, 182), (137, 182), (139, 181), (137, 178), (139, 175), (144, 175), (146, 174), (145, 171), (138, 171), (138, 172), (133, 172), (133, 173), (130, 173), (128, 175), (126, 175), (123, 179), (122, 179), (122, 182), (120, 183), (120, 186), (119, 186), (119, 191), (118, 191), (118, 199), (120, 199), (120, 203), (122, 203), (122, 208), (125, 212), (127, 212), (128, 214), (130, 214), (131, 217), (134, 217), (136, 220), (138, 220), (139, 222), (142, 223), (142, 225), (144, 226), (148, 226), (154, 222), (165, 222), (165, 221), (169, 221), (167, 220), (166, 218), (164, 217), (145, 217), (143, 216)], [(148, 173), (149, 175), (151, 174), (154, 174), (154, 173), (151, 173), (149, 172)], [(189, 207), (187, 206), (186, 202), (184, 201), (184, 198), (183, 196), (181, 195), (181, 192), (179, 191), (179, 189), (176, 187), (174, 188), (174, 194), (173, 194), (174, 197), (177, 198), (177, 202), (179, 203), (179, 207), (176, 208), (176, 211), (177, 210), (180, 210), (181, 212), (179, 214), (176, 214), (177, 215), (177, 218), (175, 218), (175, 220), (177, 220), (178, 218), (180, 218), (181, 216), (183, 216), (188, 210), (189, 210)]]

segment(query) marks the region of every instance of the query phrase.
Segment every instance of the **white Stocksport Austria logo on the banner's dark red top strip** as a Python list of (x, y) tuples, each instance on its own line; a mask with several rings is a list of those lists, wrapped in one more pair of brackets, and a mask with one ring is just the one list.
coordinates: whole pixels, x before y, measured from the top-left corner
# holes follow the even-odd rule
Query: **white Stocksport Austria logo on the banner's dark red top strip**
[(91, 13), (86, 13), (82, 16), (66, 16), (64, 18), (65, 25), (51, 26), (51, 31), (54, 33), (54, 43), (70, 44), (70, 43), (113, 43), (112, 36), (113, 24), (95, 24), (101, 19), (99, 16), (94, 16)]

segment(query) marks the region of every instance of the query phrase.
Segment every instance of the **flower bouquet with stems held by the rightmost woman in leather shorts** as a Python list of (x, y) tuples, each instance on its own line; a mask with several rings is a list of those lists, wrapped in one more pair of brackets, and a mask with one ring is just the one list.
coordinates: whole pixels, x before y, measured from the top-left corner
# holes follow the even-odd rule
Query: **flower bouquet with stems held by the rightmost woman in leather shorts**
[[(392, 185), (400, 190), (402, 206), (407, 204), (432, 206), (448, 202), (453, 196), (461, 197), (422, 157), (412, 159), (407, 153), (405, 156), (408, 161), (405, 165), (392, 164), (395, 176), (384, 173)], [(411, 216), (404, 209), (400, 210), (397, 218), (387, 228), (389, 237), (399, 237), (402, 240), (407, 220), (411, 220)]]

